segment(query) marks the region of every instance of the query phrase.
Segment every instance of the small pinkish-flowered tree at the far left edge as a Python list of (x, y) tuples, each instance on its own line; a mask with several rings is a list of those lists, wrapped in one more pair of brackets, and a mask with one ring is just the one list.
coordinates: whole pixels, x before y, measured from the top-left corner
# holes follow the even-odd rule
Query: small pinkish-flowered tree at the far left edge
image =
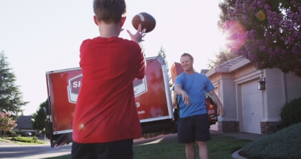
[(6, 138), (6, 131), (10, 131), (11, 129), (14, 129), (14, 127), (17, 127), (16, 121), (12, 120), (12, 117), (10, 117), (11, 114), (6, 112), (0, 112), (0, 136), (1, 132), (3, 131), (3, 135)]

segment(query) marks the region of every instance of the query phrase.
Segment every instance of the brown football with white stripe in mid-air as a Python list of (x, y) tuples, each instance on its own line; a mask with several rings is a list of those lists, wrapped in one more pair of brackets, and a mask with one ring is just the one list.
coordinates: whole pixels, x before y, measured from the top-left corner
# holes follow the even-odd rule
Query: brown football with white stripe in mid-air
[(156, 26), (156, 19), (151, 14), (141, 12), (136, 14), (132, 19), (132, 25), (138, 30), (138, 25), (141, 23), (141, 30), (145, 28), (145, 32), (151, 32)]

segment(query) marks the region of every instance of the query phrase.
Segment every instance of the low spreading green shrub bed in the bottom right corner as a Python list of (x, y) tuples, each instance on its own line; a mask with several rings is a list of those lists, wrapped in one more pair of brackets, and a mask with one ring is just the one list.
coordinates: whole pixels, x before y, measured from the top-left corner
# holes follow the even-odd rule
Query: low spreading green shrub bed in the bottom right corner
[(293, 159), (301, 156), (301, 123), (264, 136), (242, 147), (241, 156), (252, 159)]

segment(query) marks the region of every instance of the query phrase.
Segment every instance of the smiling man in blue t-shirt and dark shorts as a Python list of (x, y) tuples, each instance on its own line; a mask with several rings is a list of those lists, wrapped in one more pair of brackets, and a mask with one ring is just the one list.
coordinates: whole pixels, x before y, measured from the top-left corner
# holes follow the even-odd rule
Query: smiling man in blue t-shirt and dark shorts
[(176, 77), (174, 91), (180, 95), (180, 119), (178, 123), (178, 142), (185, 143), (187, 159), (195, 158), (194, 142), (198, 143), (201, 159), (208, 158), (207, 140), (209, 133), (209, 118), (205, 105), (205, 92), (211, 96), (218, 107), (218, 114), (225, 116), (225, 110), (220, 99), (214, 92), (214, 86), (205, 74), (194, 71), (194, 58), (187, 53), (180, 57), (184, 72)]

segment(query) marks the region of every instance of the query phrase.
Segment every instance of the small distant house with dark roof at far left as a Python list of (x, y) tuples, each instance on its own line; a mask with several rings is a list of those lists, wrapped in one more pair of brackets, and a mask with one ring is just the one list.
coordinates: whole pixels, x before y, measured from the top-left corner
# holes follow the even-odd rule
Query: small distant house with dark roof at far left
[(34, 132), (32, 129), (32, 119), (34, 116), (19, 116), (17, 120), (17, 127), (14, 127), (12, 131)]

